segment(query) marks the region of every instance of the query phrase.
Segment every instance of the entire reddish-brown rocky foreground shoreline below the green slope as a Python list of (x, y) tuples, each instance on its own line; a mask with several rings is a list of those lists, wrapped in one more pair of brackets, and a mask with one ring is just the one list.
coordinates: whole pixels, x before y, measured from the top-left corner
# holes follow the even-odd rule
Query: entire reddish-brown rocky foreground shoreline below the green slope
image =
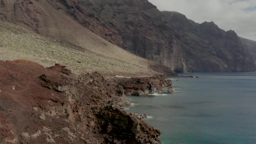
[(76, 75), (24, 60), (0, 61), (0, 80), (1, 144), (161, 144), (147, 115), (120, 107), (125, 94), (173, 91), (167, 77)]

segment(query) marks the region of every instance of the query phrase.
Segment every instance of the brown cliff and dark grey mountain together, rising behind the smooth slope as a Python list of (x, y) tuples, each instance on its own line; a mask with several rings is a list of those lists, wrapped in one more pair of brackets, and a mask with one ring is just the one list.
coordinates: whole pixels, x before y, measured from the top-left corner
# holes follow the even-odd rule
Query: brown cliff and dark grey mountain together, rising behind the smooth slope
[(236, 33), (224, 32), (212, 22), (196, 24), (179, 13), (160, 12), (147, 0), (80, 1), (66, 11), (83, 26), (173, 70), (255, 69)]

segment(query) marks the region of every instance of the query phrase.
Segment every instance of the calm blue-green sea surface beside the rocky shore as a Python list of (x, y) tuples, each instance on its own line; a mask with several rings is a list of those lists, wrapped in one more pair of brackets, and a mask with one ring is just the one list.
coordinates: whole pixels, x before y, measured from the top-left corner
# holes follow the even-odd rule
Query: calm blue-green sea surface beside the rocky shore
[(192, 73), (174, 93), (128, 96), (164, 144), (256, 144), (256, 72)]

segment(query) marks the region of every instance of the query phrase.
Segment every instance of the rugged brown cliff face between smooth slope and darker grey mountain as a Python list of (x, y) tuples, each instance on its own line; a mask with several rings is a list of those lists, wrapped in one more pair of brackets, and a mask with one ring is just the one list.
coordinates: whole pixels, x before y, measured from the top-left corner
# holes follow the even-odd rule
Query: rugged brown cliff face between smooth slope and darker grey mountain
[(136, 55), (187, 70), (173, 28), (147, 0), (81, 0), (79, 8), (67, 11), (84, 27)]

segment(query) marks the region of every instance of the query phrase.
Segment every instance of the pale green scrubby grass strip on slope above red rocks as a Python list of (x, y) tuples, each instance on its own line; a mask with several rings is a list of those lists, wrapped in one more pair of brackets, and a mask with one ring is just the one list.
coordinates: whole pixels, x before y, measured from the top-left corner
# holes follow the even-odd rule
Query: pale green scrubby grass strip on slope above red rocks
[(88, 42), (90, 47), (80, 51), (6, 21), (0, 21), (0, 34), (0, 60), (28, 59), (45, 67), (59, 63), (74, 72), (151, 73), (152, 62), (109, 43), (106, 49), (94, 49), (96, 41)]

